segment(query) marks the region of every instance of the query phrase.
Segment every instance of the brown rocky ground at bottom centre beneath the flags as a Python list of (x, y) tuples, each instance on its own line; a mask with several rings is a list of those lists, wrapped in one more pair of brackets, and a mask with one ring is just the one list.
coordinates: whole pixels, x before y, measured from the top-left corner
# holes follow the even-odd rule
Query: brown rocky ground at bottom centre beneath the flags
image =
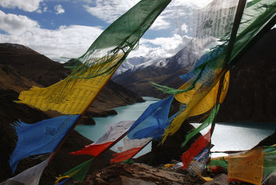
[(113, 164), (88, 175), (87, 184), (203, 184), (199, 177), (177, 169), (153, 168), (146, 164)]

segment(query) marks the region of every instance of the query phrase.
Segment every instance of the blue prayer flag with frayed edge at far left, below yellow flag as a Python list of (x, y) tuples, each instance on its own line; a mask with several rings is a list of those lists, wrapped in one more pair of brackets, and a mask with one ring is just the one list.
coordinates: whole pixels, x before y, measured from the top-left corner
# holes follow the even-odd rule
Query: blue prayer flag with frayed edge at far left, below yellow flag
[(25, 124), (22, 121), (14, 123), (18, 140), (10, 156), (12, 172), (21, 159), (30, 155), (54, 152), (77, 119), (79, 115), (63, 115), (44, 119), (35, 124)]

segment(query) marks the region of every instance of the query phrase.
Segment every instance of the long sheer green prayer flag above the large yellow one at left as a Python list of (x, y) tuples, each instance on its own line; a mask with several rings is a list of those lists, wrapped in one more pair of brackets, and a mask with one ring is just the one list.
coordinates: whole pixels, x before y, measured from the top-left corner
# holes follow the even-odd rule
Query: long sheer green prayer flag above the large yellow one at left
[[(114, 21), (92, 43), (90, 48), (75, 59), (72, 78), (92, 78), (109, 75), (126, 59), (132, 49), (137, 48), (139, 39), (150, 28), (171, 0), (142, 0)], [(114, 59), (121, 56), (119, 60)], [(72, 62), (70, 62), (72, 64)], [(72, 65), (69, 65), (70, 68)], [(87, 73), (88, 72), (88, 73)]]

